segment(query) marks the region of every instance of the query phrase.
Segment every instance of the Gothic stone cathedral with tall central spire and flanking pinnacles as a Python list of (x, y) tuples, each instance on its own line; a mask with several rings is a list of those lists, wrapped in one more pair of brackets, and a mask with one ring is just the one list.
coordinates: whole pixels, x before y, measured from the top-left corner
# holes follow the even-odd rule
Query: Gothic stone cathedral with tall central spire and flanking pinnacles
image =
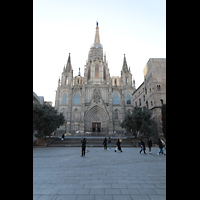
[(84, 76), (80, 75), (80, 69), (79, 74), (73, 76), (69, 54), (61, 79), (58, 80), (55, 108), (63, 113), (66, 119), (65, 124), (60, 127), (61, 130), (71, 134), (125, 132), (120, 124), (125, 114), (137, 106), (136, 101), (140, 92), (135, 88), (125, 54), (122, 63), (121, 76), (111, 77), (106, 55), (103, 55), (97, 22), (95, 39), (89, 49)]

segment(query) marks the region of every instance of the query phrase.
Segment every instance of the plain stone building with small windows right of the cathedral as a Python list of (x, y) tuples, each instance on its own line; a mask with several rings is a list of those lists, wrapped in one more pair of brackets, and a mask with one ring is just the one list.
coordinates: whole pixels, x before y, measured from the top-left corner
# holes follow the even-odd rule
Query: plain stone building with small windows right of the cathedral
[(161, 106), (166, 104), (166, 58), (150, 58), (144, 67), (144, 82), (133, 92), (133, 105), (151, 109), (162, 136)]

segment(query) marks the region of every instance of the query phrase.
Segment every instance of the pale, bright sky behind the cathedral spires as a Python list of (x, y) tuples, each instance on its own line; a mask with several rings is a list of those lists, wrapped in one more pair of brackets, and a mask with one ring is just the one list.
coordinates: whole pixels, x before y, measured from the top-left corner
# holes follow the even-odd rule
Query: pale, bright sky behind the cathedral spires
[(84, 76), (96, 21), (110, 76), (125, 54), (137, 88), (148, 60), (166, 58), (166, 0), (33, 0), (33, 91), (53, 106), (69, 53)]

